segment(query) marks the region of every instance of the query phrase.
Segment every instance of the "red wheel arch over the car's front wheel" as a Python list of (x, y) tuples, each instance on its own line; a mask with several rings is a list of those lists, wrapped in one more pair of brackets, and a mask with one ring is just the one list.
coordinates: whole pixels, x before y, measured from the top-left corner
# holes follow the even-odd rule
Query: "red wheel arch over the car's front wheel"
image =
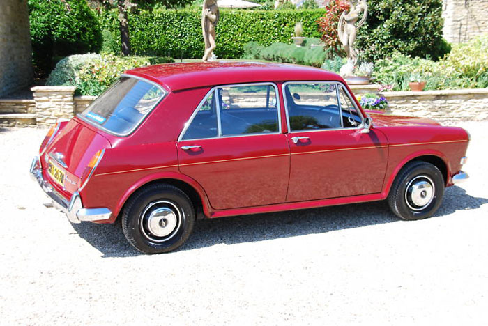
[(397, 164), (395, 170), (391, 173), (390, 177), (387, 180), (385, 189), (383, 190), (384, 198), (386, 198), (390, 193), (390, 189), (392, 187), (393, 182), (395, 181), (395, 178), (397, 178), (398, 173), (404, 168), (404, 166), (406, 166), (406, 164), (415, 161), (427, 162), (436, 166), (436, 168), (439, 169), (439, 171), (441, 171), (441, 174), (444, 179), (444, 185), (446, 186), (448, 184), (449, 173), (450, 173), (449, 164), (447, 158), (441, 152), (436, 150), (429, 150), (420, 153), (413, 153), (405, 157), (404, 160), (402, 160), (402, 162)]

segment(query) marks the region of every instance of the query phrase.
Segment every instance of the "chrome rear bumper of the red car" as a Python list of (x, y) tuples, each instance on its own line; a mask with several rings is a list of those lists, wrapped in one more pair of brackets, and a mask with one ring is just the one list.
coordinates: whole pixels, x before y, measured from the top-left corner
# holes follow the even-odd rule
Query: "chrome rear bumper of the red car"
[(102, 221), (109, 219), (112, 212), (108, 208), (84, 208), (82, 199), (78, 192), (75, 192), (68, 201), (63, 195), (52, 187), (43, 178), (40, 168), (39, 157), (33, 158), (30, 169), (31, 177), (37, 181), (43, 192), (52, 200), (54, 207), (66, 213), (66, 217), (72, 223), (81, 223), (82, 221)]

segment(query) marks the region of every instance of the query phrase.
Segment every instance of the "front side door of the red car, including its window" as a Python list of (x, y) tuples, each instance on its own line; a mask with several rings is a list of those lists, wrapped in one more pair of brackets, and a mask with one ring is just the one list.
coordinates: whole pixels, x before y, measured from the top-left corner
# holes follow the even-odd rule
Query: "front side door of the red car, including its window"
[(287, 201), (381, 192), (387, 139), (360, 132), (364, 118), (340, 83), (283, 84), (291, 152)]

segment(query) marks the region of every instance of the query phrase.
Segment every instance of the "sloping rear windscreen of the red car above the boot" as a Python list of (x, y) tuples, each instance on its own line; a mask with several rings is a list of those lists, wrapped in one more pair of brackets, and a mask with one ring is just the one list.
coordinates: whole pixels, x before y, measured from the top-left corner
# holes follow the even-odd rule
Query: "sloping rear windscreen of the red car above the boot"
[(126, 135), (141, 123), (165, 91), (148, 81), (121, 77), (94, 100), (81, 116), (114, 134)]

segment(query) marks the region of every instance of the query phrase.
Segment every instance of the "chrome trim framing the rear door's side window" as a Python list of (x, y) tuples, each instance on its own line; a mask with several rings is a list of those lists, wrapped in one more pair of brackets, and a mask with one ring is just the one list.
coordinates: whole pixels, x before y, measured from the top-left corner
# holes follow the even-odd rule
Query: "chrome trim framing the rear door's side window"
[[(275, 88), (275, 99), (276, 99), (276, 109), (277, 109), (277, 119), (278, 119), (278, 131), (277, 132), (259, 132), (259, 133), (253, 133), (253, 134), (235, 134), (235, 135), (227, 135), (227, 136), (222, 136), (222, 126), (220, 122), (220, 103), (218, 103), (218, 88), (223, 88), (223, 87), (239, 87), (239, 86), (259, 86), (259, 85), (271, 85)], [(208, 138), (198, 138), (198, 139), (183, 139), (183, 136), (185, 135), (186, 130), (188, 130), (188, 127), (193, 122), (193, 119), (195, 116), (197, 116), (197, 113), (200, 109), (200, 107), (204, 104), (206, 99), (208, 98), (211, 93), (214, 92), (215, 96), (215, 110), (217, 110), (218, 118), (217, 118), (217, 127), (218, 127), (218, 135), (217, 137), (208, 137)], [(183, 127), (183, 130), (181, 130), (177, 142), (179, 143), (180, 141), (197, 141), (197, 140), (204, 140), (204, 139), (218, 139), (218, 138), (233, 138), (233, 137), (247, 137), (247, 136), (262, 136), (266, 134), (281, 134), (282, 133), (282, 126), (281, 126), (281, 103), (280, 103), (280, 92), (278, 91), (278, 86), (277, 84), (271, 82), (271, 81), (264, 81), (264, 82), (259, 82), (259, 83), (245, 83), (245, 84), (227, 84), (227, 85), (219, 85), (219, 86), (213, 86), (208, 93), (204, 96), (204, 98), (200, 101), (200, 103), (197, 106), (197, 109), (193, 111), (192, 115), (186, 121), (185, 126)]]

